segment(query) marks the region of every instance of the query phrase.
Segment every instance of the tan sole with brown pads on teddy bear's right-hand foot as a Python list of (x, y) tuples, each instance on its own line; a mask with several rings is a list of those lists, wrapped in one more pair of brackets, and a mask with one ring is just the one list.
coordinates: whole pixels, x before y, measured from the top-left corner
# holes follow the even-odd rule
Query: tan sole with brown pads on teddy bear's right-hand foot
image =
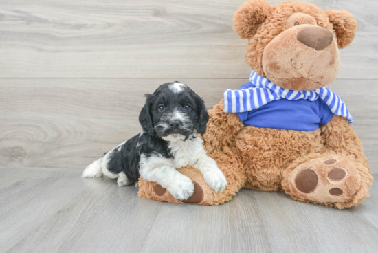
[(289, 176), (293, 195), (318, 203), (348, 201), (360, 182), (356, 165), (346, 158), (313, 159), (300, 164)]

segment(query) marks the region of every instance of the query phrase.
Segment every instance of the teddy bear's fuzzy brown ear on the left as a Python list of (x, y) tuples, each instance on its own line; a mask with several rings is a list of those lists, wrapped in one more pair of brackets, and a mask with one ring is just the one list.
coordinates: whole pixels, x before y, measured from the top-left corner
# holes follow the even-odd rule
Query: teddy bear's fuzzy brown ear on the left
[(249, 39), (269, 14), (270, 5), (265, 0), (249, 0), (238, 8), (234, 15), (234, 31), (241, 39)]

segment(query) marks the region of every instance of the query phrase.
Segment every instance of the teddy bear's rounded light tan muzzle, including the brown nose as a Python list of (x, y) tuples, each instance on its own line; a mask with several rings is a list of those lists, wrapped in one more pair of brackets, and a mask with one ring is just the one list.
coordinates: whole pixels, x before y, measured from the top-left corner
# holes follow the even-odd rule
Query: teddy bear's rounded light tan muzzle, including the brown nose
[(318, 25), (296, 25), (281, 32), (263, 52), (265, 76), (285, 89), (313, 90), (329, 85), (340, 69), (333, 32)]

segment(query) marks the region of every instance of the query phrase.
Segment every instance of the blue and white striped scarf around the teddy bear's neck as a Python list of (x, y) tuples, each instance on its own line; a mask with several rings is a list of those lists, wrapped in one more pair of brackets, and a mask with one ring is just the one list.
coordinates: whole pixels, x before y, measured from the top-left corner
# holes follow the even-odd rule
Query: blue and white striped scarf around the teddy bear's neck
[(353, 123), (353, 117), (346, 108), (342, 98), (326, 87), (313, 91), (283, 89), (271, 83), (267, 78), (258, 76), (254, 70), (251, 71), (249, 81), (252, 87), (248, 89), (227, 89), (224, 92), (224, 111), (226, 113), (252, 111), (271, 101), (280, 99), (315, 101), (320, 98), (328, 104), (333, 114), (347, 118), (349, 124)]

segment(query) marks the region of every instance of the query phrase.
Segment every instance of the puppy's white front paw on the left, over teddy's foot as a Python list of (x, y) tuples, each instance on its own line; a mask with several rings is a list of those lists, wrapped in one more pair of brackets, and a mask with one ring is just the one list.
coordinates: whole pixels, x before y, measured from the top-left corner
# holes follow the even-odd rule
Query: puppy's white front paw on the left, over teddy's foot
[(167, 190), (175, 199), (186, 200), (193, 195), (194, 184), (189, 177), (181, 175), (168, 184)]

